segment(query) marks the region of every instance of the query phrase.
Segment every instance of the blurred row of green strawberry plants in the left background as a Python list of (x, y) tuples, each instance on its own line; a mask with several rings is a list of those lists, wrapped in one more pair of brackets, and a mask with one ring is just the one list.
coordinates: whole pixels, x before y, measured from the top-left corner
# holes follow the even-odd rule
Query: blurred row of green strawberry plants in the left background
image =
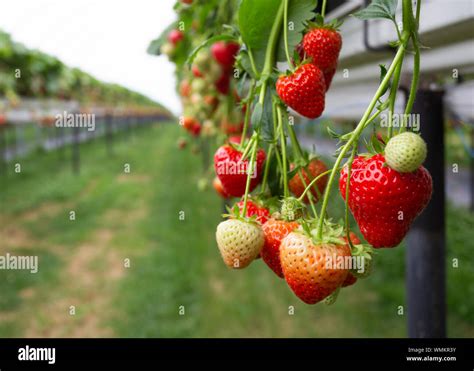
[(57, 58), (14, 42), (0, 31), (0, 96), (73, 99), (83, 104), (157, 107), (148, 97), (103, 83)]

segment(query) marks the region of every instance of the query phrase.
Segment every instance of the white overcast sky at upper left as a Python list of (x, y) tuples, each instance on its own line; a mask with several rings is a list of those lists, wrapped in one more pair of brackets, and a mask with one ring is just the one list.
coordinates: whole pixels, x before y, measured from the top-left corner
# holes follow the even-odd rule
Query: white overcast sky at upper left
[(175, 113), (174, 67), (146, 54), (175, 19), (174, 0), (0, 0), (0, 28), (100, 80), (143, 93)]

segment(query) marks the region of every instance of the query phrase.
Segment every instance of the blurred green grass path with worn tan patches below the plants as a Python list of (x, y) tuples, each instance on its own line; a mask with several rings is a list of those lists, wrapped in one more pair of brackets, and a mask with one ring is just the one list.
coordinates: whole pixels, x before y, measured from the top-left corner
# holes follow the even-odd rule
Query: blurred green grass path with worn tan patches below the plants
[[(56, 152), (31, 156), (2, 180), (0, 254), (38, 254), (40, 271), (0, 271), (0, 336), (406, 336), (404, 246), (381, 251), (371, 277), (330, 307), (301, 303), (262, 261), (227, 269), (214, 240), (221, 201), (197, 190), (201, 158), (176, 150), (179, 135), (144, 129), (117, 139), (112, 157), (103, 139), (85, 144), (79, 176)], [(474, 217), (447, 217), (448, 333), (472, 337)]]

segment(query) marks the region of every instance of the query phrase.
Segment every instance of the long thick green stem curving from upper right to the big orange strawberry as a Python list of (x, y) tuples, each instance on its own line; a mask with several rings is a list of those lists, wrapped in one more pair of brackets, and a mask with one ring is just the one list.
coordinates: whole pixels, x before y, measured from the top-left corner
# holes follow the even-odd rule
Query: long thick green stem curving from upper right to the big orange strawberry
[(334, 167), (332, 168), (331, 175), (329, 176), (329, 181), (326, 186), (326, 191), (324, 192), (324, 198), (323, 198), (323, 205), (321, 206), (321, 212), (319, 215), (321, 215), (321, 218), (318, 221), (318, 228), (317, 228), (317, 237), (319, 239), (322, 238), (323, 235), (323, 226), (324, 226), (324, 215), (326, 213), (326, 208), (328, 206), (328, 201), (329, 201), (329, 194), (331, 193), (331, 186), (334, 182), (334, 178), (336, 176), (336, 171), (341, 165), (341, 161), (346, 155), (348, 149), (352, 146), (352, 144), (359, 138), (360, 134), (362, 133), (362, 130), (364, 129), (365, 123), (367, 119), (369, 118), (370, 114), (372, 113), (375, 105), (377, 104), (377, 101), (381, 97), (382, 93), (385, 91), (387, 88), (388, 83), (390, 82), (390, 79), (397, 68), (398, 64), (403, 58), (403, 55), (405, 53), (405, 43), (401, 44), (400, 47), (398, 48), (397, 54), (395, 55), (392, 64), (390, 65), (390, 68), (387, 71), (387, 74), (383, 78), (379, 88), (375, 92), (374, 97), (372, 98), (372, 101), (369, 104), (369, 107), (367, 107), (364, 115), (362, 116), (362, 119), (360, 122), (357, 124), (357, 127), (354, 129), (351, 138), (347, 141), (347, 143), (342, 147), (341, 152), (339, 153), (339, 156), (336, 159), (336, 162), (334, 164)]

